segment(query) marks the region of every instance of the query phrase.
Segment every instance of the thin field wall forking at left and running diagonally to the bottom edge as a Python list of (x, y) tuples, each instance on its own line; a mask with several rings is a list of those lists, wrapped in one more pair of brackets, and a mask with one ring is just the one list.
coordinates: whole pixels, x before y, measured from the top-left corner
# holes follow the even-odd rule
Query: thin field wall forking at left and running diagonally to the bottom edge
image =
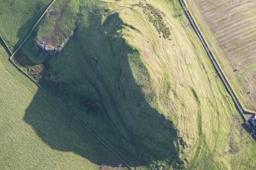
[(8, 57), (8, 60), (9, 62), (15, 66), (16, 69), (18, 69), (22, 74), (24, 74), (26, 77), (28, 77), (28, 79), (31, 80), (31, 82), (34, 82), (35, 85), (37, 85), (37, 87), (39, 89), (41, 89), (42, 91), (46, 92), (47, 95), (50, 96), (50, 98), (53, 99), (53, 101), (57, 102), (57, 104), (60, 104), (61, 107), (63, 107), (63, 109), (68, 113), (70, 114), (74, 120), (76, 120), (82, 127), (84, 127), (93, 137), (96, 138), (96, 140), (99, 141), (99, 143), (102, 143), (102, 146), (105, 146), (106, 149), (109, 149), (110, 152), (112, 152), (112, 154), (118, 158), (121, 162), (123, 162), (126, 166), (126, 168), (128, 168), (129, 170), (132, 170), (132, 169), (136, 169), (132, 166), (130, 166), (126, 161), (125, 159), (122, 159), (121, 156), (118, 156), (118, 153), (116, 153), (114, 151), (114, 149), (112, 149), (110, 146), (108, 146), (103, 140), (101, 140), (99, 138), (99, 136), (96, 135), (96, 133), (94, 133), (92, 130), (90, 130), (89, 127), (86, 126), (86, 123), (83, 123), (82, 120), (80, 120), (79, 118), (77, 118), (66, 106), (65, 104), (62, 103), (62, 101), (60, 101), (58, 98), (55, 98), (53, 95), (50, 95), (50, 92), (47, 91), (45, 88), (43, 88), (41, 85), (39, 85), (36, 81), (34, 81), (33, 78), (31, 78), (30, 75), (28, 75), (26, 72), (24, 72), (24, 70), (22, 70), (14, 61), (13, 61), (13, 57), (15, 56), (15, 54), (18, 52), (18, 50), (21, 49), (21, 47), (24, 45), (24, 43), (26, 43), (26, 41), (28, 40), (28, 38), (31, 36), (31, 34), (33, 33), (34, 29), (37, 27), (37, 24), (39, 24), (39, 22), (41, 21), (42, 18), (44, 18), (44, 15), (47, 13), (47, 10), (53, 5), (53, 3), (55, 2), (56, 0), (53, 0), (52, 2), (50, 2), (50, 4), (48, 5), (48, 7), (45, 9), (44, 13), (41, 15), (41, 17), (37, 20), (36, 24), (34, 24), (34, 27), (32, 27), (30, 33), (28, 34), (28, 36), (22, 41), (21, 45), (18, 47), (17, 50), (15, 50), (14, 53), (11, 53), (11, 50), (8, 48), (8, 45), (7, 43), (5, 43), (5, 40), (0, 36), (0, 39), (2, 39), (2, 42), (5, 44), (5, 46), (7, 47), (8, 49), (8, 53), (11, 54), (11, 56)]

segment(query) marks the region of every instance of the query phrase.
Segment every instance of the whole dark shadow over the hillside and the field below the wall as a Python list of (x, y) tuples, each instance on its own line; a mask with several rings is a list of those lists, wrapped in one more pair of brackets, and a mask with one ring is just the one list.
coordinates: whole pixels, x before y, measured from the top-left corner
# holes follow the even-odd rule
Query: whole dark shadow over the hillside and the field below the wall
[[(121, 34), (122, 28), (130, 26), (117, 13), (103, 24), (101, 21), (99, 11), (93, 11), (89, 27), (78, 24), (63, 51), (44, 63), (47, 69), (40, 84), (134, 167), (160, 161), (165, 167), (183, 168), (178, 157), (183, 140), (173, 123), (148, 104), (154, 93), (145, 98), (142, 92), (142, 88), (151, 91), (147, 69), (138, 50), (128, 46)], [(25, 44), (24, 50), (30, 47), (33, 45)], [(108, 151), (88, 140), (86, 130), (77, 127), (70, 115), (61, 113), (61, 108), (56, 110), (48, 103), (53, 101), (41, 96), (38, 91), (24, 120), (47, 145), (75, 152), (98, 165), (116, 165), (112, 156), (106, 158)]]

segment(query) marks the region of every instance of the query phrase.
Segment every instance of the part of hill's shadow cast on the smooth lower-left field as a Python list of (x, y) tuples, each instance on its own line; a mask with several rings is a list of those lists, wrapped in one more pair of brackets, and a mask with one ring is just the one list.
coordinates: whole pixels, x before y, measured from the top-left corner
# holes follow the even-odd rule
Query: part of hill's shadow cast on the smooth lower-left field
[(74, 152), (97, 165), (115, 167), (121, 164), (44, 91), (38, 90), (34, 95), (24, 120), (52, 149)]

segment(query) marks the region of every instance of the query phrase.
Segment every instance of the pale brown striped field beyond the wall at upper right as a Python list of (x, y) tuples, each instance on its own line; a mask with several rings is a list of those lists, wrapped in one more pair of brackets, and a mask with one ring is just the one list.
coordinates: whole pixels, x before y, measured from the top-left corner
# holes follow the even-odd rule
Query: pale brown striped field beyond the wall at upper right
[(247, 111), (256, 111), (254, 1), (186, 1)]

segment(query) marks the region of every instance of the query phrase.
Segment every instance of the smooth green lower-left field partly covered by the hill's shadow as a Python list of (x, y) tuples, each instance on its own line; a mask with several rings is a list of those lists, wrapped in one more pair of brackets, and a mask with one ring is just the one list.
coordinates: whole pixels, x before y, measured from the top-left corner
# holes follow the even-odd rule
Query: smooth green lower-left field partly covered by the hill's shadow
[(120, 161), (44, 91), (0, 46), (0, 168), (99, 169)]

